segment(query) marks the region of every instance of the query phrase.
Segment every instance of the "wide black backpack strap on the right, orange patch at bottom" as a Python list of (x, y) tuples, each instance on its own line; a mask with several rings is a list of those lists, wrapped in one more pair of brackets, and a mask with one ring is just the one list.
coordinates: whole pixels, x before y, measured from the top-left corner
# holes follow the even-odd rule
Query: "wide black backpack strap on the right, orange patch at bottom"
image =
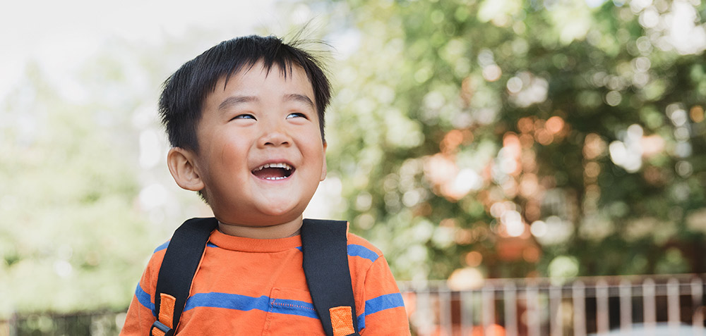
[(306, 285), (328, 336), (359, 335), (347, 231), (348, 223), (342, 220), (304, 219), (301, 225)]

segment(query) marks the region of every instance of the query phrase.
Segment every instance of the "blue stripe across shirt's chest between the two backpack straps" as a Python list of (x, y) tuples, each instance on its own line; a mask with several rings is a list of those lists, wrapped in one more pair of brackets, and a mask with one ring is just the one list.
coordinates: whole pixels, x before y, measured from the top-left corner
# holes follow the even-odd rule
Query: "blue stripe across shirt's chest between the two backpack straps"
[(186, 300), (184, 311), (198, 307), (234, 309), (238, 311), (272, 311), (287, 315), (318, 318), (313, 304), (304, 301), (287, 299), (270, 299), (270, 297), (247, 297), (227, 293), (197, 293)]

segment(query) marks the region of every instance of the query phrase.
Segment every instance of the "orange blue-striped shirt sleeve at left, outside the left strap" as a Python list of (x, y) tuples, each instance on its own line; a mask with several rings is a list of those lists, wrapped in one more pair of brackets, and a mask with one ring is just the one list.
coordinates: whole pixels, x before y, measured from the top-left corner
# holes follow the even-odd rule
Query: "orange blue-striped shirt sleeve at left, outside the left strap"
[(120, 331), (121, 336), (150, 335), (150, 328), (157, 321), (154, 314), (155, 302), (153, 299), (155, 297), (156, 283), (152, 282), (152, 279), (157, 278), (157, 275), (153, 274), (155, 271), (153, 266), (155, 264), (160, 265), (161, 260), (157, 263), (156, 257), (156, 254), (152, 255), (152, 259), (147, 268), (145, 268), (145, 272), (135, 289), (135, 294), (125, 317), (125, 323)]

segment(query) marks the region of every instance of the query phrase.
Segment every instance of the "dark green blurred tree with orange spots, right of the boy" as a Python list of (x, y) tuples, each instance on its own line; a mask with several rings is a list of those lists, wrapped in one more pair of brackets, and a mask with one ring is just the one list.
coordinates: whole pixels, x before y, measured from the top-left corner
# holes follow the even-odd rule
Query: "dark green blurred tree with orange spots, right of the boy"
[(400, 279), (706, 272), (706, 5), (328, 4), (330, 176)]

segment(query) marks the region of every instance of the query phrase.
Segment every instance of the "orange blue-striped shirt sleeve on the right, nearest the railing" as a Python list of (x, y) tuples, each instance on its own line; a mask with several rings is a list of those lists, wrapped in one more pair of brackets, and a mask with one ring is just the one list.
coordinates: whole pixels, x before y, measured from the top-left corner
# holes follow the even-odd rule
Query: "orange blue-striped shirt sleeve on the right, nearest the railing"
[(364, 313), (358, 318), (361, 335), (410, 335), (405, 302), (383, 256), (369, 268), (364, 291)]

